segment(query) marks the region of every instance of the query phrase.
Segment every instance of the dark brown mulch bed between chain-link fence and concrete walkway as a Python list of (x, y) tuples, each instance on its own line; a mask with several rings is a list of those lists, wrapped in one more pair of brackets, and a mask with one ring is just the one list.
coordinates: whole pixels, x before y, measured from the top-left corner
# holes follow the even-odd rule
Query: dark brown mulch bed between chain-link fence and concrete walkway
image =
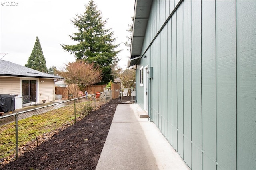
[(98, 110), (66, 129), (60, 129), (1, 170), (94, 170), (100, 158), (119, 99), (112, 99)]

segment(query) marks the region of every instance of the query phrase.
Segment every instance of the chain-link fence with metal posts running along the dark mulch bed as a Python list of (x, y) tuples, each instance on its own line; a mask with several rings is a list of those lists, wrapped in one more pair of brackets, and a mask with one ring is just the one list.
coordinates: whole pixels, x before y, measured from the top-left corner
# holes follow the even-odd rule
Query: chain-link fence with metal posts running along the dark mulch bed
[(111, 91), (0, 117), (0, 163), (50, 139), (112, 98)]

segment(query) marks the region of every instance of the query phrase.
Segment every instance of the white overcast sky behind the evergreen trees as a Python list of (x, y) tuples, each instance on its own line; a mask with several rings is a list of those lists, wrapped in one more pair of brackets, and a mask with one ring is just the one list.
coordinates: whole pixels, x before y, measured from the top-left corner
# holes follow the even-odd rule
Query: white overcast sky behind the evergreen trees
[[(106, 29), (112, 28), (115, 44), (119, 44), (121, 68), (126, 68), (130, 52), (122, 43), (128, 39), (128, 24), (132, 23), (134, 0), (94, 0)], [(16, 3), (17, 2), (17, 3)], [(64, 51), (60, 44), (76, 44), (68, 35), (78, 32), (70, 20), (81, 15), (88, 0), (0, 0), (0, 58), (24, 66), (38, 36), (46, 66), (58, 69), (64, 63), (75, 61), (74, 55)]]

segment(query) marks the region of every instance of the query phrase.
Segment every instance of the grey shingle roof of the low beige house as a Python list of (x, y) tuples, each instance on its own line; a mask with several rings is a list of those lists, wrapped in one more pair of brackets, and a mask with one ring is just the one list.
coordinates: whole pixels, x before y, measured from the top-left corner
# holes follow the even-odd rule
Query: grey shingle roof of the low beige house
[(62, 78), (52, 74), (33, 70), (31, 68), (12, 63), (10, 61), (0, 60), (0, 76), (8, 77), (34, 77), (34, 78)]

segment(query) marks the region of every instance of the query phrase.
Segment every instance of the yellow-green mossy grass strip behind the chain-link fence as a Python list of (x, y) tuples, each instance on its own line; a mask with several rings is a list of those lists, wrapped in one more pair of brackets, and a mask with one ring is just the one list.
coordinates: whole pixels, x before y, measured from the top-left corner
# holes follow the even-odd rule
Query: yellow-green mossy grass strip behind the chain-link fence
[[(77, 119), (87, 115), (84, 114), (84, 106), (88, 106), (88, 103), (91, 102), (76, 102)], [(35, 135), (38, 137), (65, 125), (74, 124), (74, 102), (65, 104), (58, 109), (50, 109), (50, 107), (38, 109), (36, 113), (33, 113), (34, 115), (29, 112), (18, 115), (20, 119), (18, 120), (19, 147), (30, 141), (35, 141)], [(2, 125), (0, 128), (0, 158), (4, 158), (15, 154), (15, 122)]]

